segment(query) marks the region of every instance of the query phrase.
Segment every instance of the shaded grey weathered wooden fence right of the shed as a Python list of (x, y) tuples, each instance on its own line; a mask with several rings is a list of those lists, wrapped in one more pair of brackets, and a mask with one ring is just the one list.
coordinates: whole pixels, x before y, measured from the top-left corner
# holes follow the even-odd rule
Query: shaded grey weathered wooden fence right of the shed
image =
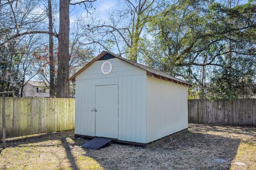
[(256, 125), (256, 99), (188, 100), (188, 122)]

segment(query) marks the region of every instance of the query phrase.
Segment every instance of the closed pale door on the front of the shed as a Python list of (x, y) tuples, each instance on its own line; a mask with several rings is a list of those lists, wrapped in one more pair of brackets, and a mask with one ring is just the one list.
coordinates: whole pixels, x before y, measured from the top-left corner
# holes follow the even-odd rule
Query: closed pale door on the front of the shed
[(95, 136), (118, 138), (118, 85), (95, 86)]

